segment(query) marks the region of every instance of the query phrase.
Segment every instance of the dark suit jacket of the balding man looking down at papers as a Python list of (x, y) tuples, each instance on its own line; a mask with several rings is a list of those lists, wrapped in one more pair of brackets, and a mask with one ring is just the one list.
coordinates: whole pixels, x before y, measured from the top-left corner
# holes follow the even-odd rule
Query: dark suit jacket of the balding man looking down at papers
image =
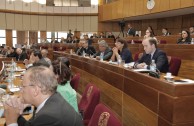
[[(163, 73), (168, 72), (168, 58), (166, 56), (166, 53), (163, 52), (160, 49), (156, 49), (156, 51), (154, 52), (154, 55), (152, 57), (152, 60), (155, 60), (156, 63), (156, 68)], [(144, 53), (143, 56), (141, 57), (141, 59), (139, 59), (137, 61), (138, 63), (146, 63), (148, 65), (147, 69), (150, 69), (150, 64), (151, 64), (151, 58), (150, 58), (150, 54), (146, 54)]]

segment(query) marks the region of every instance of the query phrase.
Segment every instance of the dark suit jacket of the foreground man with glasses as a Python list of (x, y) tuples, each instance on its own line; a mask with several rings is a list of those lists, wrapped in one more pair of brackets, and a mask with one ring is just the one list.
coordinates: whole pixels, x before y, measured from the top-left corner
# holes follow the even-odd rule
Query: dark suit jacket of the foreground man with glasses
[(18, 118), (19, 126), (83, 126), (80, 115), (63, 99), (54, 93), (42, 109), (29, 121)]

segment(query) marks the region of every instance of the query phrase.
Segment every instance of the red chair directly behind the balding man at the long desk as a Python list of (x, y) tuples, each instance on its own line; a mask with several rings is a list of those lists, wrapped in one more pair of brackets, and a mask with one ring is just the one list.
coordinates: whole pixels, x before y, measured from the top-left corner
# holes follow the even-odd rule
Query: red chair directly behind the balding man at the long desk
[(168, 63), (169, 72), (171, 72), (172, 75), (177, 76), (181, 66), (181, 59), (178, 57), (168, 56)]

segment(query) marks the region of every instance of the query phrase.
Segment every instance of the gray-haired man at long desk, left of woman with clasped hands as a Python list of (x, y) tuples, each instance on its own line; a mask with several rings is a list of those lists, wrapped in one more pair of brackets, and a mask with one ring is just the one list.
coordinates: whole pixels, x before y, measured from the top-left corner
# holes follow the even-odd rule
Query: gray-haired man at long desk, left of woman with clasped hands
[(105, 40), (98, 42), (99, 51), (94, 55), (97, 60), (100, 60), (100, 55), (103, 53), (103, 60), (109, 60), (113, 54), (112, 49), (108, 46)]

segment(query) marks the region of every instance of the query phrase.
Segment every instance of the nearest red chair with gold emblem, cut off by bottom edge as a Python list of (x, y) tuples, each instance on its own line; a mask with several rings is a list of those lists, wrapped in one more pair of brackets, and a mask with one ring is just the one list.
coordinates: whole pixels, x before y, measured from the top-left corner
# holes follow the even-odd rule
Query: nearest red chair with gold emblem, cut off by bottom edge
[(122, 126), (114, 113), (103, 104), (98, 104), (88, 126)]

